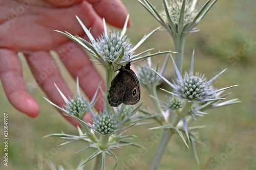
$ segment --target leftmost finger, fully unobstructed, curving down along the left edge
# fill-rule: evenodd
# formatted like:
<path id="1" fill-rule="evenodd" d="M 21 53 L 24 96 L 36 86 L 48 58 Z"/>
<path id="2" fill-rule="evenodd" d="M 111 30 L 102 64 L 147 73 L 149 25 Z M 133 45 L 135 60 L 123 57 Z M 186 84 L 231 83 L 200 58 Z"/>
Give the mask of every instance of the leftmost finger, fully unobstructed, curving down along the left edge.
<path id="1" fill-rule="evenodd" d="M 16 52 L 0 50 L 0 78 L 13 107 L 30 117 L 36 117 L 40 111 L 39 105 L 26 89 L 22 64 Z"/>

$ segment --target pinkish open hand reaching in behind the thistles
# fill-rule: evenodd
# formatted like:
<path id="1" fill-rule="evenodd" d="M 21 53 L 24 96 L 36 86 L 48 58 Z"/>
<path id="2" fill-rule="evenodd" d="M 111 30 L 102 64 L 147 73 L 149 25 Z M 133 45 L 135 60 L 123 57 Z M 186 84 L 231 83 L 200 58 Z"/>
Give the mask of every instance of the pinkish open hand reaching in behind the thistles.
<path id="1" fill-rule="evenodd" d="M 0 16 L 4 17 L 0 18 L 0 78 L 12 106 L 30 117 L 36 117 L 40 112 L 39 104 L 26 88 L 17 52 L 24 53 L 32 74 L 39 80 L 38 85 L 53 103 L 65 104 L 54 83 L 66 96 L 73 96 L 73 93 L 54 64 L 50 50 L 59 54 L 72 77 L 79 78 L 80 87 L 92 99 L 102 81 L 98 71 L 81 47 L 53 30 L 68 31 L 87 39 L 75 18 L 77 15 L 87 28 L 91 28 L 92 35 L 98 37 L 103 31 L 102 18 L 110 25 L 122 28 L 127 14 L 119 0 L 0 0 Z M 129 21 L 128 26 L 130 24 Z M 38 79 L 44 68 L 49 68 L 48 74 Z M 101 87 L 104 90 L 104 83 Z M 102 107 L 103 98 L 100 98 L 96 108 L 101 110 Z"/>

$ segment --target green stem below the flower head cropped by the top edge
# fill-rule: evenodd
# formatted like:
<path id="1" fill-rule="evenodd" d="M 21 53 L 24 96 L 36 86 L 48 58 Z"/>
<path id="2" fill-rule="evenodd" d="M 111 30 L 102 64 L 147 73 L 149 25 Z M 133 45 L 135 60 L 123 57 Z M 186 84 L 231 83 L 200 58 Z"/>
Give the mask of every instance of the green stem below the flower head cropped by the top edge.
<path id="1" fill-rule="evenodd" d="M 178 35 L 176 38 L 174 38 L 174 48 L 175 52 L 175 63 L 180 71 L 180 74 L 182 75 L 182 66 L 183 66 L 183 57 L 184 57 L 184 46 L 185 46 L 185 40 L 186 40 L 186 34 Z M 175 74 L 175 81 L 177 79 L 177 75 Z"/>

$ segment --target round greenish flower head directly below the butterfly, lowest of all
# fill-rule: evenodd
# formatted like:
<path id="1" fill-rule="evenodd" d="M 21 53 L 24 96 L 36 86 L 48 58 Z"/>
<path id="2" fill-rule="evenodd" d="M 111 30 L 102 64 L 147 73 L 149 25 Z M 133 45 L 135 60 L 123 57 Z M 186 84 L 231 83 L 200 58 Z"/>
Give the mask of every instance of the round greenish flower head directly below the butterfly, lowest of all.
<path id="1" fill-rule="evenodd" d="M 93 125 L 99 134 L 110 135 L 118 128 L 117 117 L 113 114 L 98 114 Z"/>

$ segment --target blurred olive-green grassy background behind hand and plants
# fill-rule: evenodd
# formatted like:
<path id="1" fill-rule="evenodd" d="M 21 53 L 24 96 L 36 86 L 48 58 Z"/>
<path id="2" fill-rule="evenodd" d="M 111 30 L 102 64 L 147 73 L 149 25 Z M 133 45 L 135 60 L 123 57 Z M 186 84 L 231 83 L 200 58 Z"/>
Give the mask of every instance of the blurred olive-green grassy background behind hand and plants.
<path id="1" fill-rule="evenodd" d="M 159 27 L 159 23 L 137 1 L 122 2 L 133 21 L 127 35 L 134 44 L 145 33 Z M 161 8 L 162 1 L 151 2 L 158 9 Z M 204 1 L 199 3 L 202 2 Z M 238 84 L 238 87 L 228 90 L 232 92 L 229 99 L 239 98 L 242 103 L 210 110 L 210 114 L 198 118 L 193 124 L 206 125 L 199 131 L 200 138 L 206 145 L 197 145 L 200 165 L 197 165 L 191 149 L 187 149 L 180 138 L 174 136 L 168 144 L 159 169 L 256 169 L 256 61 L 253 58 L 256 54 L 255 8 L 254 0 L 218 1 L 197 26 L 201 31 L 187 37 L 184 70 L 189 69 L 190 57 L 195 49 L 195 70 L 204 72 L 210 79 L 227 68 L 214 85 L 222 88 Z M 244 48 L 248 41 L 252 42 L 249 50 Z M 137 53 L 152 47 L 155 52 L 173 50 L 173 42 L 168 33 L 158 31 L 141 45 Z M 157 56 L 152 60 L 161 64 L 163 59 L 164 56 Z M 24 63 L 25 81 L 34 81 L 24 58 L 21 60 Z M 63 77 L 75 92 L 73 79 L 61 64 L 60 67 Z M 173 77 L 171 62 L 165 76 L 169 80 Z M 42 98 L 45 94 L 38 87 L 31 91 L 41 108 L 40 115 L 35 119 L 18 112 L 10 105 L 1 84 L 0 92 L 1 121 L 2 113 L 9 113 L 9 165 L 3 165 L 3 140 L 0 140 L 0 169 L 46 169 L 46 159 L 50 159 L 55 165 L 63 164 L 67 169 L 75 169 L 81 159 L 84 160 L 90 155 L 92 150 L 75 153 L 83 147 L 81 142 L 58 147 L 61 142 L 58 138 L 42 138 L 61 131 L 77 134 L 77 130 Z M 145 90 L 142 90 L 141 102 L 152 105 Z M 2 139 L 2 122 L 0 126 Z M 116 169 L 149 169 L 160 137 L 158 131 L 147 130 L 151 126 L 132 127 L 126 131 L 126 134 L 137 135 L 134 142 L 144 145 L 150 152 L 136 157 L 138 148 L 117 149 L 114 151 L 119 157 Z M 148 144 L 147 141 L 154 142 Z M 111 169 L 115 160 L 108 158 L 107 162 L 107 169 Z M 89 162 L 85 169 L 92 169 L 93 163 L 94 160 Z"/>

